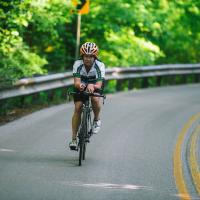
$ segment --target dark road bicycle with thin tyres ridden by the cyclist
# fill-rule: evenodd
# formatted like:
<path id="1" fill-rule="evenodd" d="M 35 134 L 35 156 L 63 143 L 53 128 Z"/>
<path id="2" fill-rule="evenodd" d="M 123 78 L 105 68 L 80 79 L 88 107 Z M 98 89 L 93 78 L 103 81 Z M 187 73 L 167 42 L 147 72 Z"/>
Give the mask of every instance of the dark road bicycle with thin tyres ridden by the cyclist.
<path id="1" fill-rule="evenodd" d="M 81 113 L 81 123 L 78 129 L 77 138 L 78 138 L 78 146 L 77 151 L 79 152 L 79 166 L 82 164 L 82 160 L 85 160 L 86 154 L 86 147 L 87 143 L 90 142 L 90 137 L 93 135 L 92 131 L 92 105 L 90 97 L 102 97 L 103 104 L 106 98 L 105 95 L 101 95 L 98 93 L 89 93 L 86 91 L 83 92 L 69 92 L 69 95 L 74 94 L 82 94 L 84 95 L 84 101 L 82 106 L 82 113 Z"/>

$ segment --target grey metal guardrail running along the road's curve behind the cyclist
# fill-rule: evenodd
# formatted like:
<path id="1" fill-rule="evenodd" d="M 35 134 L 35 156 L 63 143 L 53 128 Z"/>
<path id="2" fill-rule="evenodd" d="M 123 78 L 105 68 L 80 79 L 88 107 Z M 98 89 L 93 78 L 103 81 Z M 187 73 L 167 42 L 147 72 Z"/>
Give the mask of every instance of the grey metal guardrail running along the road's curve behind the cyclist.
<path id="1" fill-rule="evenodd" d="M 124 80 L 129 80 L 129 88 L 131 88 L 134 84 L 134 79 L 142 78 L 143 87 L 147 87 L 148 78 L 156 77 L 156 84 L 160 86 L 162 77 L 175 77 L 177 75 L 186 77 L 191 74 L 195 75 L 195 82 L 200 82 L 200 64 L 174 64 L 130 68 L 114 67 L 106 69 L 106 81 L 117 80 L 116 87 L 119 89 Z M 72 85 L 72 72 L 57 73 L 35 78 L 24 78 L 18 80 L 12 88 L 1 90 L 0 100 L 69 87 Z"/>

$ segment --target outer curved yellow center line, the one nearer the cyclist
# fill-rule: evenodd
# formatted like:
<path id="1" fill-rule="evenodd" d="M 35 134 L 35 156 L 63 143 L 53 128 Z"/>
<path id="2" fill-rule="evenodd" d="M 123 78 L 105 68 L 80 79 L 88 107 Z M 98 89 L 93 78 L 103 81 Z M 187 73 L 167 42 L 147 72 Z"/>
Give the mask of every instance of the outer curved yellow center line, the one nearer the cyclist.
<path id="1" fill-rule="evenodd" d="M 174 177 L 176 182 L 176 187 L 179 192 L 179 197 L 182 200 L 191 200 L 191 196 L 188 192 L 186 183 L 184 181 L 183 175 L 183 167 L 182 167 L 182 159 L 181 159 L 181 152 L 182 152 L 182 145 L 184 142 L 184 138 L 186 134 L 189 132 L 189 128 L 192 124 L 200 118 L 200 113 L 192 116 L 190 120 L 184 125 L 183 129 L 181 130 L 178 140 L 175 146 L 174 156 L 173 156 L 173 163 L 174 163 Z"/>

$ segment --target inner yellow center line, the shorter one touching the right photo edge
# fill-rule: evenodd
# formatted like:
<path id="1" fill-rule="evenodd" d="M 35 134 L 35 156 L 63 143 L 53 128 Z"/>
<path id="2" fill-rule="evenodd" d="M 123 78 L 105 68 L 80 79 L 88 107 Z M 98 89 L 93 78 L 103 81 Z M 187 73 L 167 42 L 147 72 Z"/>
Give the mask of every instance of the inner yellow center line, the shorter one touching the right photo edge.
<path id="1" fill-rule="evenodd" d="M 196 190 L 198 194 L 200 195 L 200 173 L 199 173 L 199 167 L 198 167 L 198 162 L 196 158 L 196 148 L 197 148 L 196 144 L 197 144 L 198 134 L 200 134 L 200 125 L 197 126 L 194 134 L 192 135 L 191 146 L 190 146 L 191 174 L 192 174 L 192 178 L 193 178 L 193 182 L 196 187 Z"/>

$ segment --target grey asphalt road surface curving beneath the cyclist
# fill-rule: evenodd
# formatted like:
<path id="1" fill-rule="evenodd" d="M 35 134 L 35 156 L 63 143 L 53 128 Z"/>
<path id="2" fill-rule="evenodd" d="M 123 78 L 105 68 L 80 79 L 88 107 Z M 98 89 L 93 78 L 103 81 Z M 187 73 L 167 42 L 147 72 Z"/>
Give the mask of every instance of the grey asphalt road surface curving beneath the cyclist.
<path id="1" fill-rule="evenodd" d="M 0 200 L 185 198 L 174 174 L 175 147 L 200 112 L 200 84 L 108 95 L 102 129 L 91 138 L 81 167 L 78 153 L 68 148 L 72 112 L 73 103 L 63 104 L 0 127 Z M 199 199 L 187 157 L 190 132 L 181 150 L 183 181 L 188 198 Z"/>

